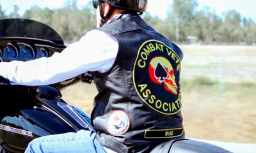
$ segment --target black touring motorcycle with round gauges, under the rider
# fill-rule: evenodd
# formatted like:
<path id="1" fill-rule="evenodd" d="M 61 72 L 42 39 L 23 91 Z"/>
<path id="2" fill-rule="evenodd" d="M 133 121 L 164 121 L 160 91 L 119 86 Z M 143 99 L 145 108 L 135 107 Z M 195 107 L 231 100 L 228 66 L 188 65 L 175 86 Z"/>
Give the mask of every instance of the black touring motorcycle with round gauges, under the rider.
<path id="1" fill-rule="evenodd" d="M 49 57 L 66 46 L 49 25 L 24 18 L 0 20 L 0 58 L 10 62 Z M 92 83 L 84 73 L 52 85 L 18 85 L 0 77 L 0 152 L 24 152 L 40 136 L 94 131 L 83 111 L 61 99 L 61 90 L 77 82 Z M 152 152 L 228 152 L 195 140 L 161 143 Z"/>

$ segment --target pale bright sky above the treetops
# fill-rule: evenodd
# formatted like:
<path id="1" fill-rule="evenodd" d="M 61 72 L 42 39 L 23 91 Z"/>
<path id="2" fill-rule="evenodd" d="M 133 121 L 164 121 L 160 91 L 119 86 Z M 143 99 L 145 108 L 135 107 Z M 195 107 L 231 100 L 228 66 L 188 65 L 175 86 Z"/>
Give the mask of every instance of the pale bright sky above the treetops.
<path id="1" fill-rule="evenodd" d="M 9 14 L 13 11 L 13 5 L 19 6 L 19 13 L 22 15 L 27 9 L 33 5 L 38 5 L 41 8 L 61 8 L 67 0 L 0 0 L 2 10 Z M 84 4 L 91 0 L 77 0 L 77 6 L 83 7 Z M 197 0 L 198 9 L 208 7 L 217 15 L 221 15 L 228 10 L 236 10 L 243 17 L 252 18 L 256 21 L 256 0 Z M 160 18 L 166 17 L 166 11 L 170 8 L 172 0 L 148 0 L 147 11 L 151 15 L 156 15 Z"/>

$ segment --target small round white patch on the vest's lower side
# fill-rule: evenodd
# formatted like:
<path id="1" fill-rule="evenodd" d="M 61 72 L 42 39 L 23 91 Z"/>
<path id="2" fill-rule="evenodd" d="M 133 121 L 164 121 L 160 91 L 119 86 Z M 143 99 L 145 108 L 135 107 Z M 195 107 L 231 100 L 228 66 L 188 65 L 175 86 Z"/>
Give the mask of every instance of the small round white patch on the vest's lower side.
<path id="1" fill-rule="evenodd" d="M 124 135 L 130 127 L 130 119 L 122 110 L 116 110 L 108 118 L 108 131 L 111 135 Z"/>

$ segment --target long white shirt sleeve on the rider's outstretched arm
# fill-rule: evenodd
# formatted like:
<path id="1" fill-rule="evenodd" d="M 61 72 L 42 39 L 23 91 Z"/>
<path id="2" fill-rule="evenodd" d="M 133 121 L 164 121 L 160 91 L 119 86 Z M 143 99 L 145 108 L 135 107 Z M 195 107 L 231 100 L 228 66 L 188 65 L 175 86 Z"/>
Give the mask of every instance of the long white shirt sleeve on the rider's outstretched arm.
<path id="1" fill-rule="evenodd" d="M 49 85 L 86 71 L 108 71 L 115 62 L 118 42 L 103 31 L 89 31 L 61 53 L 33 61 L 0 63 L 0 75 L 20 85 Z"/>

